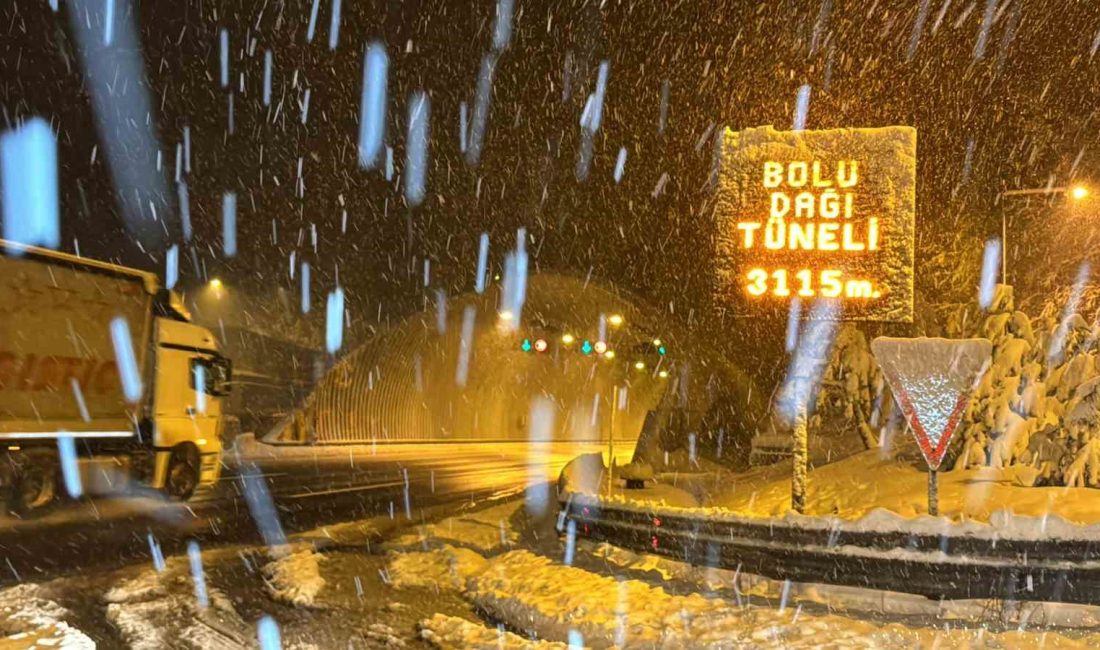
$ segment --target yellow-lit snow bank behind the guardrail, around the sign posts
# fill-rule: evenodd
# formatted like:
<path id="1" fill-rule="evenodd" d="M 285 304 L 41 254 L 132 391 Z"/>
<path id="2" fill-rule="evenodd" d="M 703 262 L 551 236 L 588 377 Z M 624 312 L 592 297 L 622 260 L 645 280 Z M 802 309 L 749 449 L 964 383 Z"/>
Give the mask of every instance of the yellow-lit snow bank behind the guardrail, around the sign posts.
<path id="1" fill-rule="evenodd" d="M 734 476 L 708 507 L 685 508 L 623 495 L 575 495 L 634 511 L 705 517 L 734 524 L 774 524 L 837 532 L 910 532 L 988 540 L 1037 541 L 1100 538 L 1096 491 L 1023 487 L 1014 467 L 942 472 L 941 514 L 926 508 L 927 475 L 909 463 L 882 460 L 877 450 L 856 454 L 810 473 L 807 513 L 789 511 L 790 475 L 754 472 Z M 630 493 L 626 493 L 628 496 Z"/>

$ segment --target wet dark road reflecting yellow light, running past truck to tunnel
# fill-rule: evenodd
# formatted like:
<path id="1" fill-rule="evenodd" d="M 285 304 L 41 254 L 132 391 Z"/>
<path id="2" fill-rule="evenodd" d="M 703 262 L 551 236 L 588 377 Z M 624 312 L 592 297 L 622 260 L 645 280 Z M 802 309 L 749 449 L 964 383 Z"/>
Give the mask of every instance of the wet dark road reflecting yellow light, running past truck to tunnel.
<path id="1" fill-rule="evenodd" d="M 77 565 L 147 553 L 152 532 L 166 547 L 191 538 L 237 542 L 260 527 L 242 476 L 262 478 L 286 531 L 375 515 L 406 519 L 446 503 L 501 498 L 557 478 L 588 443 L 406 443 L 275 445 L 241 436 L 227 451 L 217 489 L 187 503 L 131 494 L 61 503 L 31 519 L 0 517 L 0 584 L 65 575 Z M 619 444 L 628 455 L 632 447 Z M 99 552 L 110 549 L 110 553 Z"/>

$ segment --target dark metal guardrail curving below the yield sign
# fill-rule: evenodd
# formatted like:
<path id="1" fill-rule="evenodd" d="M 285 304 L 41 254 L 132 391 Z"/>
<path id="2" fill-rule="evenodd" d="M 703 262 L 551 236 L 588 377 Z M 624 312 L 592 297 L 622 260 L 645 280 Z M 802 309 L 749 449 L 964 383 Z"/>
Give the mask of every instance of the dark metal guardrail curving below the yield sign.
<path id="1" fill-rule="evenodd" d="M 578 537 L 773 580 L 936 599 L 1100 604 L 1100 539 L 854 531 L 784 520 L 706 518 L 575 494 L 561 506 L 561 521 L 573 521 Z"/>

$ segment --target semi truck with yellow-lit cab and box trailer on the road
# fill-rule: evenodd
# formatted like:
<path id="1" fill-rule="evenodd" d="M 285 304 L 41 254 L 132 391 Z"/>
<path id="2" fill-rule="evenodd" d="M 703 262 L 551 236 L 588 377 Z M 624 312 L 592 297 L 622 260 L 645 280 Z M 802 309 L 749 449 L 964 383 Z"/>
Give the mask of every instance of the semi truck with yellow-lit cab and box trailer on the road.
<path id="1" fill-rule="evenodd" d="M 63 459 L 84 493 L 133 481 L 187 499 L 216 483 L 232 366 L 179 297 L 151 273 L 3 240 L 0 249 L 9 509 L 59 496 Z"/>

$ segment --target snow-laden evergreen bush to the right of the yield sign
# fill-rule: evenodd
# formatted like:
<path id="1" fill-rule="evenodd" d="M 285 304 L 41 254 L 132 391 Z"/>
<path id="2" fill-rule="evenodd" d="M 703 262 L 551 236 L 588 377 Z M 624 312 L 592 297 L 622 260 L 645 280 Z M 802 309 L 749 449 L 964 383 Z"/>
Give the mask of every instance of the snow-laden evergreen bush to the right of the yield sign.
<path id="1" fill-rule="evenodd" d="M 1030 318 L 1004 285 L 987 310 L 967 306 L 949 317 L 947 334 L 989 339 L 993 361 L 948 466 L 1028 465 L 1036 485 L 1100 487 L 1098 333 L 1079 313 Z"/>

